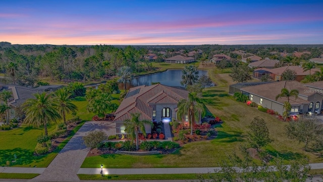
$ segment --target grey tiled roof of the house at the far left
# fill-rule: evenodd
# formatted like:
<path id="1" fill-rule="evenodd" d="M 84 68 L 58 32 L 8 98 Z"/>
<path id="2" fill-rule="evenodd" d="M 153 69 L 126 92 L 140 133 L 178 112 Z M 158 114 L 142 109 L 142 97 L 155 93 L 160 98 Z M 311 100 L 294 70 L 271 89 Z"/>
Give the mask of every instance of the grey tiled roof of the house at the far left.
<path id="1" fill-rule="evenodd" d="M 34 88 L 13 84 L 3 85 L 0 92 L 3 90 L 8 90 L 12 93 L 13 99 L 9 100 L 8 105 L 16 108 L 21 106 L 27 99 L 35 99 L 34 94 L 41 93 L 41 91 Z"/>

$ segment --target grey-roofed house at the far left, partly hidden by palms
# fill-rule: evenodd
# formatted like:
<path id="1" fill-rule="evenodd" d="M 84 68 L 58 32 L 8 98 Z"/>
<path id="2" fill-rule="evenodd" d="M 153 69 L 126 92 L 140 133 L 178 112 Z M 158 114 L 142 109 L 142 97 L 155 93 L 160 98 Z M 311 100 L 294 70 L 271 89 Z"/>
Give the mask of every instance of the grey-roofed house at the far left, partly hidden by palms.
<path id="1" fill-rule="evenodd" d="M 34 94 L 42 92 L 41 90 L 37 90 L 35 88 L 28 88 L 13 84 L 0 85 L 0 92 L 3 92 L 4 90 L 8 90 L 13 96 L 8 101 L 8 105 L 11 107 L 9 110 L 9 119 L 17 118 L 16 112 L 18 112 L 21 105 L 28 99 L 35 99 Z"/>

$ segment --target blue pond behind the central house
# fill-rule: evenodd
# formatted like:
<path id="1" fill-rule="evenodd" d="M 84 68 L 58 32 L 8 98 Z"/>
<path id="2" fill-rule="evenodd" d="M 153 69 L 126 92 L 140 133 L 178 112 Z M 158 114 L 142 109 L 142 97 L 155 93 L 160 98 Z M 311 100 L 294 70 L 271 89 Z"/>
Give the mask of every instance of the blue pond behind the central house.
<path id="1" fill-rule="evenodd" d="M 198 75 L 207 75 L 207 71 L 198 70 Z M 168 86 L 183 86 L 182 81 L 182 70 L 167 70 L 164 72 L 144 75 L 132 78 L 130 83 L 127 83 L 127 89 L 139 85 L 151 85 L 151 82 L 159 82 L 160 84 Z M 124 89 L 124 85 L 119 85 L 120 89 Z"/>

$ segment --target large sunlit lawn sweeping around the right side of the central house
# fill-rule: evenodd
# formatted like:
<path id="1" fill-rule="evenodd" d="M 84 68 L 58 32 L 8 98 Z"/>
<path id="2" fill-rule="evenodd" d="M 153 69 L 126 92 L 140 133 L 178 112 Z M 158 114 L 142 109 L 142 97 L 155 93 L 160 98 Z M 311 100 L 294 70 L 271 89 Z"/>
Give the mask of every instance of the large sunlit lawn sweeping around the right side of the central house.
<path id="1" fill-rule="evenodd" d="M 174 66 L 172 65 L 172 67 Z M 165 66 L 163 69 L 167 69 L 167 67 Z M 229 69 L 223 71 L 212 67 L 202 67 L 202 69 L 208 70 L 210 77 L 218 84 L 216 87 L 207 88 L 202 98 L 208 112 L 224 120 L 224 123 L 217 126 L 219 135 L 216 139 L 186 144 L 169 155 L 129 156 L 110 154 L 87 157 L 81 167 L 97 168 L 98 164 L 101 163 L 107 168 L 218 166 L 221 159 L 225 158 L 228 153 L 239 151 L 239 144 L 246 140 L 248 125 L 256 116 L 266 121 L 270 136 L 274 140 L 265 148 L 269 153 L 284 157 L 286 163 L 288 163 L 288 160 L 304 157 L 307 157 L 311 163 L 323 161 L 318 155 L 302 150 L 303 144 L 287 138 L 284 130 L 286 122 L 260 112 L 257 108 L 238 103 L 232 96 L 228 95 L 229 85 L 234 83 L 229 77 Z"/>

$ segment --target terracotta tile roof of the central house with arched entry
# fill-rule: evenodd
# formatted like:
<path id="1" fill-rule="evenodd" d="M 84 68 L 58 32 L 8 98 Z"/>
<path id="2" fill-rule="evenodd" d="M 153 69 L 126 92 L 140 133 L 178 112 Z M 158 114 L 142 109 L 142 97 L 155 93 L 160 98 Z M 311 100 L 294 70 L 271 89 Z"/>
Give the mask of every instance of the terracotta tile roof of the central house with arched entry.
<path id="1" fill-rule="evenodd" d="M 141 85 L 129 89 L 125 99 L 115 112 L 114 121 L 131 119 L 130 113 L 140 113 L 140 120 L 151 120 L 152 105 L 177 104 L 188 97 L 188 91 L 180 88 L 154 84 Z"/>

